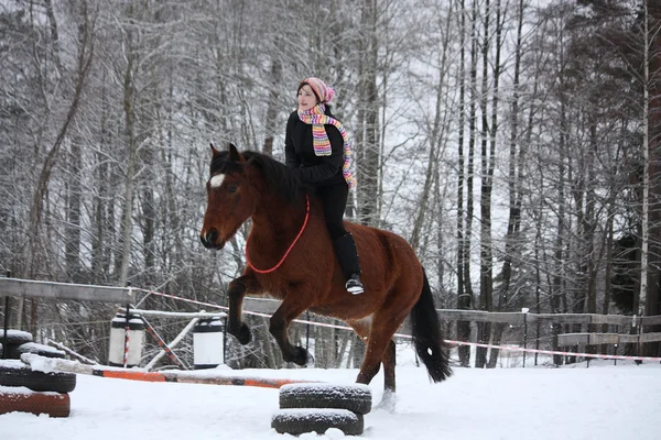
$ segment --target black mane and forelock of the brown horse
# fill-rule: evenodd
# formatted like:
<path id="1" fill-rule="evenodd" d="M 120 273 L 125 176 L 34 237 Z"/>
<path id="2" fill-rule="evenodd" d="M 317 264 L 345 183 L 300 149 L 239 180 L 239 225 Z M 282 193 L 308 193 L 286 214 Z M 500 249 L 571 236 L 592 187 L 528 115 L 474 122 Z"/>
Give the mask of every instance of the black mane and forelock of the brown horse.
<path id="1" fill-rule="evenodd" d="M 212 160 L 210 174 L 242 172 L 242 167 L 249 164 L 261 170 L 269 189 L 272 189 L 289 202 L 302 200 L 303 196 L 310 193 L 310 188 L 301 183 L 290 167 L 273 157 L 253 151 L 242 151 L 241 155 L 247 162 L 235 162 L 230 160 L 229 152 L 219 152 Z"/>

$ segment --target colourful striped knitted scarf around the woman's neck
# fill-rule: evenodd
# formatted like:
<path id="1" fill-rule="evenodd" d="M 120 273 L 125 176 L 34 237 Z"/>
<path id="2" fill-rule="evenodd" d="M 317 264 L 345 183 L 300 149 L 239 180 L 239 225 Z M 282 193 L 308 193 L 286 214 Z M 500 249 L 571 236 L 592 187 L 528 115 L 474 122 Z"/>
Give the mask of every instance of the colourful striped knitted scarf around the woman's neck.
<path id="1" fill-rule="evenodd" d="M 312 146 L 314 147 L 314 154 L 317 156 L 329 156 L 330 141 L 326 134 L 325 124 L 330 124 L 339 130 L 342 139 L 344 141 L 344 165 L 342 166 L 342 174 L 349 185 L 349 188 L 356 186 L 356 177 L 351 173 L 351 141 L 349 134 L 345 130 L 342 122 L 335 118 L 330 118 L 326 114 L 326 106 L 318 103 L 310 110 L 299 111 L 299 119 L 306 124 L 312 125 Z"/>

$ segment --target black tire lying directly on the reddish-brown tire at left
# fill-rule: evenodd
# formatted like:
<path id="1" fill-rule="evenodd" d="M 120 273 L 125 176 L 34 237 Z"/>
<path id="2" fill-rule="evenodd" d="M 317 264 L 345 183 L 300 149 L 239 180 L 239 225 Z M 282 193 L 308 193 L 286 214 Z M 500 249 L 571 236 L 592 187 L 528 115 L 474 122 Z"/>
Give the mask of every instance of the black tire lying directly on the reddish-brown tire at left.
<path id="1" fill-rule="evenodd" d="M 71 393 L 76 388 L 76 375 L 32 371 L 20 361 L 9 361 L 0 365 L 0 385 L 24 386 L 34 392 Z"/>

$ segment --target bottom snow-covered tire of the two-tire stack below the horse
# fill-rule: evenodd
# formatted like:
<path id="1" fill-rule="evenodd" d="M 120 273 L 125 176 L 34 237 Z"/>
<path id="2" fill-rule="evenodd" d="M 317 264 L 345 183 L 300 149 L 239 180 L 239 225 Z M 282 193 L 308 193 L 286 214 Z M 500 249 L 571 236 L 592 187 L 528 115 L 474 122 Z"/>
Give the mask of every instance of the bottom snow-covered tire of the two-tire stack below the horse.
<path id="1" fill-rule="evenodd" d="M 271 428 L 292 436 L 313 431 L 323 435 L 329 428 L 345 436 L 359 436 L 364 427 L 362 415 L 348 409 L 280 409 L 271 418 Z"/>

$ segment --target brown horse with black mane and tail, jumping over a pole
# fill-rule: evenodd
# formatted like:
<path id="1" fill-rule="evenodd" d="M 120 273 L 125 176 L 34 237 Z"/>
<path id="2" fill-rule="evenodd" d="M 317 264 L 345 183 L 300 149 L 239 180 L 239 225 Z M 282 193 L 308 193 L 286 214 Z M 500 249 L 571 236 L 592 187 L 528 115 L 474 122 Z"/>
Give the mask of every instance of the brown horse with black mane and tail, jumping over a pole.
<path id="1" fill-rule="evenodd" d="M 395 389 L 392 336 L 411 317 L 415 351 L 432 381 L 449 376 L 447 354 L 432 292 L 413 249 L 392 232 L 346 222 L 358 248 L 365 293 L 351 295 L 335 257 L 321 201 L 282 163 L 256 152 L 212 145 L 208 205 L 202 243 L 220 250 L 249 218 L 248 265 L 229 284 L 227 331 L 240 343 L 251 333 L 241 321 L 246 295 L 270 295 L 282 304 L 269 331 L 286 362 L 305 365 L 310 354 L 294 346 L 288 328 L 303 311 L 342 319 L 367 343 L 356 382 L 369 384 L 383 363 L 387 393 Z"/>

